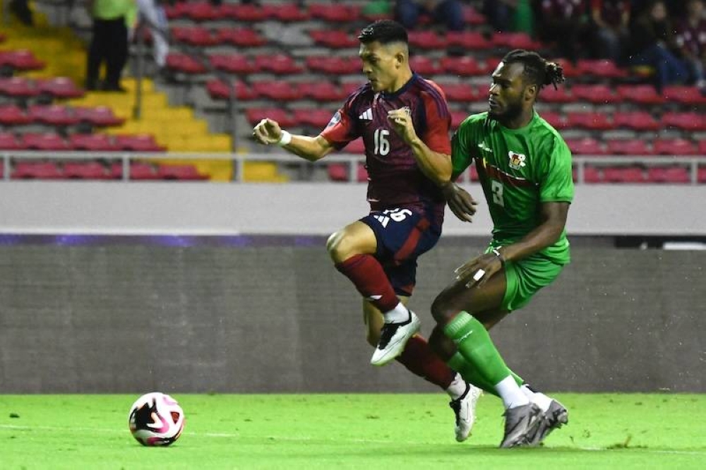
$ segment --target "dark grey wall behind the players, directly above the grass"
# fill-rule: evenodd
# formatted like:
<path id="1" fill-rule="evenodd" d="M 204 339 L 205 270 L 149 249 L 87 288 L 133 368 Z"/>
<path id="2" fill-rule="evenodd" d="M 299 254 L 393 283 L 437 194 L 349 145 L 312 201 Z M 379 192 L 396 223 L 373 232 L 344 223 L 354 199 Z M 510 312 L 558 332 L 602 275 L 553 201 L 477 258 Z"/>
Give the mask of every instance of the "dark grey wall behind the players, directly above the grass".
<path id="1" fill-rule="evenodd" d="M 481 249 L 421 258 L 428 313 Z M 322 247 L 3 246 L 0 392 L 429 392 L 369 366 L 360 299 Z M 577 248 L 493 330 L 551 391 L 706 392 L 706 252 Z"/>

